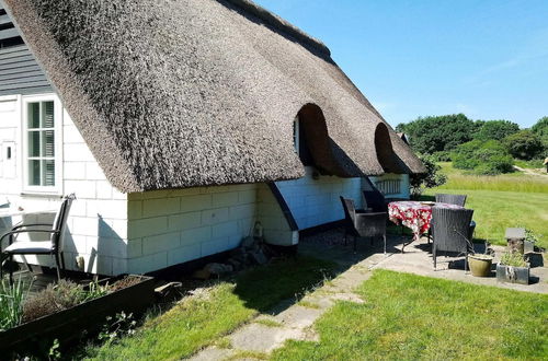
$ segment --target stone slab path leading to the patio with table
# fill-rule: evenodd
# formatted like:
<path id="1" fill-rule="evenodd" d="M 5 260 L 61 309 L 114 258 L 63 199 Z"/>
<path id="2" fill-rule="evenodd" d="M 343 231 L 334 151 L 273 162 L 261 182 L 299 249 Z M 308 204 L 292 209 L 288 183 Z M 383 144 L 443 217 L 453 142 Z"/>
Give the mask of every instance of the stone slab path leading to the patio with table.
<path id="1" fill-rule="evenodd" d="M 450 257 L 438 258 L 437 270 L 434 270 L 432 257 L 425 251 L 429 247 L 426 240 L 407 246 L 404 254 L 400 253 L 403 241 L 403 237 L 400 236 L 389 238 L 387 255 L 381 253 L 380 245 L 377 244 L 372 248 L 366 243 L 362 243 L 358 252 L 354 253 L 350 245 L 343 246 L 336 241 L 333 242 L 340 236 L 336 231 L 332 232 L 302 242 L 299 245 L 299 253 L 338 263 L 344 270 L 336 278 L 310 292 L 298 303 L 283 302 L 270 315 L 260 315 L 251 323 L 228 335 L 226 338 L 230 348 L 210 347 L 202 350 L 191 360 L 250 360 L 254 359 L 253 356 L 256 358 L 271 353 L 276 348 L 282 347 L 287 339 L 318 340 L 318 335 L 312 328 L 313 323 L 339 300 L 362 303 L 363 300 L 354 293 L 354 289 L 367 280 L 375 268 L 548 293 L 548 268 L 546 267 L 532 269 L 532 276 L 537 278 L 535 284 L 498 283 L 494 277 L 477 278 L 465 273 L 457 259 Z M 495 252 L 502 253 L 502 247 L 495 248 Z"/>

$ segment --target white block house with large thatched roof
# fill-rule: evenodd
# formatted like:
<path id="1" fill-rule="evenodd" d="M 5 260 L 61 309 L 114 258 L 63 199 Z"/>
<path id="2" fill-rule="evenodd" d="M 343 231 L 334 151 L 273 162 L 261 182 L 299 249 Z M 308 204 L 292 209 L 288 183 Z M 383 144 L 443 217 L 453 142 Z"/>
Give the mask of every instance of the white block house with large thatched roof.
<path id="1" fill-rule="evenodd" d="M 75 193 L 69 269 L 167 268 L 237 247 L 258 221 L 294 246 L 343 218 L 339 196 L 406 198 L 423 172 L 322 43 L 250 1 L 3 9 L 0 220 L 50 221 Z"/>

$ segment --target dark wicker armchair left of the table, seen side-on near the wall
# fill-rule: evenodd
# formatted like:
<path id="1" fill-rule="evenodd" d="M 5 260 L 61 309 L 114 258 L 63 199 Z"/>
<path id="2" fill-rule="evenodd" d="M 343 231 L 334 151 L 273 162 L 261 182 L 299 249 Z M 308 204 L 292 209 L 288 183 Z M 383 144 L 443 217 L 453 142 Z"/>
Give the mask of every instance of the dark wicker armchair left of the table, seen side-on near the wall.
<path id="1" fill-rule="evenodd" d="M 354 200 L 341 197 L 344 209 L 344 244 L 349 234 L 354 236 L 354 252 L 356 251 L 357 237 L 370 237 L 372 244 L 375 237 L 383 237 L 384 252 L 386 254 L 386 219 L 385 212 L 358 212 Z"/>

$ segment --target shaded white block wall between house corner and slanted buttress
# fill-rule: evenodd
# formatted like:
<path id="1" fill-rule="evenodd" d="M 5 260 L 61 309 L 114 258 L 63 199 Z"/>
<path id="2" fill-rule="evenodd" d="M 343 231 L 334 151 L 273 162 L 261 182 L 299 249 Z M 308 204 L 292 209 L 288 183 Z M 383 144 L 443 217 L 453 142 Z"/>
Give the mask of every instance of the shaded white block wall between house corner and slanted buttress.
<path id="1" fill-rule="evenodd" d="M 128 271 L 142 273 L 237 247 L 252 233 L 258 185 L 128 195 Z"/>

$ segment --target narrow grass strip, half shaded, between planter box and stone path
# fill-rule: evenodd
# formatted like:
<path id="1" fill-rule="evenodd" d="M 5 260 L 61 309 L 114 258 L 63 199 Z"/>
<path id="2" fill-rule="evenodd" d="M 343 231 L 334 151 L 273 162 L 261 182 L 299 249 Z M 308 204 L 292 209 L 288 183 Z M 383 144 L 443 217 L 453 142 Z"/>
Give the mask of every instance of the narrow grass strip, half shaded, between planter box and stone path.
<path id="1" fill-rule="evenodd" d="M 88 347 L 79 359 L 179 360 L 192 356 L 283 300 L 300 299 L 334 270 L 309 257 L 258 267 L 221 281 L 151 317 L 132 337 Z"/>

